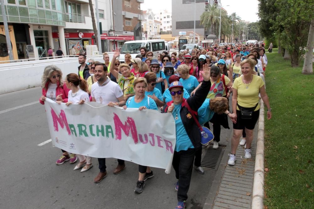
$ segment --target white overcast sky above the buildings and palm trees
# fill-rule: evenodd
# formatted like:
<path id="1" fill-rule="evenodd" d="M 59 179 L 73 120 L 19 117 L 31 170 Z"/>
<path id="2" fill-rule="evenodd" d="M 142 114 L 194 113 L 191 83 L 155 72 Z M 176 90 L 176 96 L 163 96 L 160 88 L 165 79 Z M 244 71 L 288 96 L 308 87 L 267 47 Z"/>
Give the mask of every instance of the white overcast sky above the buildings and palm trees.
<path id="1" fill-rule="evenodd" d="M 257 16 L 258 0 L 249 1 L 221 0 L 221 3 L 223 8 L 227 10 L 228 15 L 235 12 L 237 13 L 238 16 L 241 17 L 242 20 L 250 22 L 258 21 Z M 141 9 L 147 10 L 148 8 L 153 9 L 153 12 L 159 12 L 160 10 L 163 9 L 167 9 L 169 12 L 171 12 L 171 0 L 157 0 L 157 1 L 145 0 L 144 3 L 141 4 Z"/>

